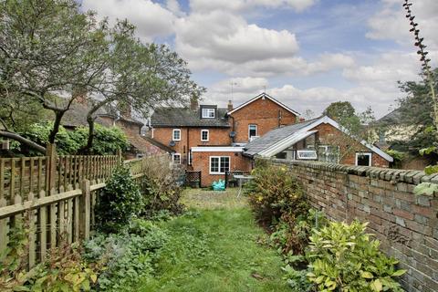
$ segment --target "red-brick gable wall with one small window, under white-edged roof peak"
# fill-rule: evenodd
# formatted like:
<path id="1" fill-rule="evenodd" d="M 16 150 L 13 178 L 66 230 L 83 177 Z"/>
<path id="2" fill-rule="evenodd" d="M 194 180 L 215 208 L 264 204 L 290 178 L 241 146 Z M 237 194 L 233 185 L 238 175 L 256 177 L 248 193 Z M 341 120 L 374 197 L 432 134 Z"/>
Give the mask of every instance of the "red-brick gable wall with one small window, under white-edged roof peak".
<path id="1" fill-rule="evenodd" d="M 281 110 L 282 118 L 279 119 Z M 257 125 L 257 135 L 263 136 L 269 130 L 278 128 L 279 125 L 290 125 L 297 122 L 297 116 L 277 105 L 270 99 L 256 99 L 232 115 L 235 119 L 235 142 L 248 141 L 248 125 Z M 233 123 L 233 119 L 230 120 Z"/>

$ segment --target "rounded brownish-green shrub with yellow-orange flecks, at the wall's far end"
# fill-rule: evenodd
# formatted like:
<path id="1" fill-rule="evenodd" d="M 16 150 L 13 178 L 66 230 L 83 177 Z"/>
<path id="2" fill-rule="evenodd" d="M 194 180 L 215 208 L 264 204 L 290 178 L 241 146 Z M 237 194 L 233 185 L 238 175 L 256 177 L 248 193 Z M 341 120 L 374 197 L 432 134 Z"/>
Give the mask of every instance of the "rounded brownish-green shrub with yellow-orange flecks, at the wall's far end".
<path id="1" fill-rule="evenodd" d="M 308 204 L 301 185 L 286 167 L 260 166 L 252 174 L 254 179 L 247 183 L 246 193 L 262 223 L 276 222 L 282 214 L 296 217 L 306 213 Z"/>

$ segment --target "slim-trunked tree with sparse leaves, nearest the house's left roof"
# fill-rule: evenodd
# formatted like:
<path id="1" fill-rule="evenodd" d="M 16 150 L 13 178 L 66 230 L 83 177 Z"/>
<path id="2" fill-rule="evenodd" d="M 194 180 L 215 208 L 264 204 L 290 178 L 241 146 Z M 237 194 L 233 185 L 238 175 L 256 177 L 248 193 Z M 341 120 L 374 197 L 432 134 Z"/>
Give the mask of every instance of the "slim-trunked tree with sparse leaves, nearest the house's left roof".
<path id="1" fill-rule="evenodd" d="M 126 20 L 109 32 L 107 73 L 102 86 L 93 89 L 100 98 L 91 99 L 89 141 L 82 151 L 92 148 L 95 113 L 104 106 L 129 108 L 147 118 L 154 107 L 187 105 L 205 90 L 191 80 L 187 63 L 169 47 L 145 45 L 134 34 L 135 27 Z"/>

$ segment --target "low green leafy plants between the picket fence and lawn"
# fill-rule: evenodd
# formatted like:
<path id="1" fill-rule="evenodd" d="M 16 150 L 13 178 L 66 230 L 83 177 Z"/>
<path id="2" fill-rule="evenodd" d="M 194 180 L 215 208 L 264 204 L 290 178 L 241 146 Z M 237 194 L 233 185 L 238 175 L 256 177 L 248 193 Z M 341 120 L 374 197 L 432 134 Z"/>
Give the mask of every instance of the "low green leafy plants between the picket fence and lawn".
<path id="1" fill-rule="evenodd" d="M 98 279 L 99 291 L 129 291 L 139 280 L 151 276 L 157 250 L 167 240 L 158 226 L 137 219 L 119 235 L 98 234 L 86 242 L 84 257 L 107 263 Z"/>

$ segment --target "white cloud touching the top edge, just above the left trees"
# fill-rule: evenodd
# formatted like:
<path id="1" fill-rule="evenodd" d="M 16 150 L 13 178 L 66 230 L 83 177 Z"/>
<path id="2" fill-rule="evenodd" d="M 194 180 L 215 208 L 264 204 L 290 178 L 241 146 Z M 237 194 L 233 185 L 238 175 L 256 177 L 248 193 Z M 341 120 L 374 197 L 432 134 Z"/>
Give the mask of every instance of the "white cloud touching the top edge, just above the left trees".
<path id="1" fill-rule="evenodd" d="M 150 0 L 82 0 L 82 6 L 96 11 L 100 17 L 108 16 L 111 24 L 116 19 L 127 18 L 137 26 L 138 36 L 145 41 L 151 41 L 154 36 L 171 35 L 174 31 L 176 16 Z"/>

